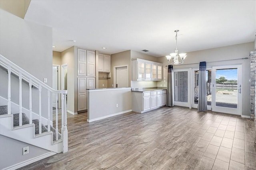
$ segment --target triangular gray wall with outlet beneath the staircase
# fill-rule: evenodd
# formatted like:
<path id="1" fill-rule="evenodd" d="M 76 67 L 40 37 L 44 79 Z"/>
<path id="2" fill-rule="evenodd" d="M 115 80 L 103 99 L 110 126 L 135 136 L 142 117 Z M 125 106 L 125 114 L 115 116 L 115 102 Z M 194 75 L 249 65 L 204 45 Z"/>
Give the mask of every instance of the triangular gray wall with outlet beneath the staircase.
<path id="1" fill-rule="evenodd" d="M 29 153 L 22 155 L 22 148 L 29 147 Z M 0 135 L 0 169 L 46 154 L 49 150 L 35 147 Z"/>

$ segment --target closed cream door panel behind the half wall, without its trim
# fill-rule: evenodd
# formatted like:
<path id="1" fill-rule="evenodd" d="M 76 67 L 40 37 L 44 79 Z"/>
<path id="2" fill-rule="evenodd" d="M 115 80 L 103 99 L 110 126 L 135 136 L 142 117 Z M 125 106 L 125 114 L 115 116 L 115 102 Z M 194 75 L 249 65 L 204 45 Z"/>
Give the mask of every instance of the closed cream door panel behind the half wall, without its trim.
<path id="1" fill-rule="evenodd" d="M 127 66 L 116 68 L 116 87 L 128 87 Z"/>

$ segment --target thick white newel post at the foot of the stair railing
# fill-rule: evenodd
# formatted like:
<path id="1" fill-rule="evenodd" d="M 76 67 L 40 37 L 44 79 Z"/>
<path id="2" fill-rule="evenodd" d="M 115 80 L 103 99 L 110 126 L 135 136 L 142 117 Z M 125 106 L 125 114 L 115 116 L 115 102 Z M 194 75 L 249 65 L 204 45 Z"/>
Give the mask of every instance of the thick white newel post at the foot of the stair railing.
<path id="1" fill-rule="evenodd" d="M 66 93 L 63 94 L 64 96 L 64 107 L 63 107 L 63 129 L 62 129 L 62 144 L 63 149 L 62 152 L 68 152 L 68 129 L 67 129 L 67 105 L 66 105 Z"/>

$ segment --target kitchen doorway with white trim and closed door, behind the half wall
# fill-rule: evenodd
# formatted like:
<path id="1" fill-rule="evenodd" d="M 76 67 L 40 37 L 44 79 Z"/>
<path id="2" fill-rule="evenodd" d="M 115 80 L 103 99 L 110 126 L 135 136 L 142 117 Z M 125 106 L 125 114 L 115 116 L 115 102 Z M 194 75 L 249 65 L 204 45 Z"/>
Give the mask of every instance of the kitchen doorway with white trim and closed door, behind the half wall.
<path id="1" fill-rule="evenodd" d="M 114 87 L 128 87 L 128 66 L 114 67 Z"/>

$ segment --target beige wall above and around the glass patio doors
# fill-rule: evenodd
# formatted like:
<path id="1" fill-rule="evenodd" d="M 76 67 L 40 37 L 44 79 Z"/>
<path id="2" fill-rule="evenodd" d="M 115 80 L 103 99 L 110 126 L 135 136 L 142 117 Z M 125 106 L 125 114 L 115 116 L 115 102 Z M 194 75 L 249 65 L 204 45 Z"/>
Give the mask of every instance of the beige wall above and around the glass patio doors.
<path id="1" fill-rule="evenodd" d="M 176 68 L 198 68 L 200 61 L 206 61 L 206 66 L 224 66 L 231 64 L 242 64 L 242 115 L 250 115 L 250 60 L 233 60 L 233 61 L 223 61 L 223 60 L 232 60 L 232 59 L 240 59 L 249 57 L 250 51 L 254 49 L 254 42 L 251 43 L 242 43 L 237 45 L 230 45 L 226 47 L 218 47 L 214 49 L 206 49 L 201 51 L 193 51 L 187 53 L 187 58 L 184 64 L 174 65 L 174 69 Z M 163 84 L 167 87 L 167 74 L 168 68 L 165 67 L 168 65 L 168 61 L 166 57 L 159 57 L 159 63 L 163 63 L 164 72 L 163 77 L 166 77 L 166 82 L 160 81 L 158 82 L 158 86 Z M 212 62 L 212 63 L 209 63 Z"/>

